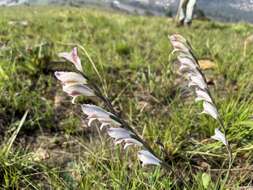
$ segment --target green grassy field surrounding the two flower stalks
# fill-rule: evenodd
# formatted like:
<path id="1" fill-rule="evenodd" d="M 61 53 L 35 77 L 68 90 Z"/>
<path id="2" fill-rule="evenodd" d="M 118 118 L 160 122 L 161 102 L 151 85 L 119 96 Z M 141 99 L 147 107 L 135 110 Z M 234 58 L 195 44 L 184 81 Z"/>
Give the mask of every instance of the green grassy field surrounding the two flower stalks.
<path id="1" fill-rule="evenodd" d="M 24 22 L 25 21 L 25 22 Z M 29 114 L 6 156 L 0 155 L 2 189 L 183 189 L 177 177 L 145 167 L 136 150 L 115 147 L 107 135 L 86 127 L 53 76 L 64 70 L 57 53 L 79 44 L 85 73 L 102 86 L 123 117 L 149 141 L 162 142 L 166 158 L 185 176 L 186 189 L 218 189 L 226 172 L 225 147 L 213 141 L 218 124 L 198 115 L 201 106 L 185 97 L 168 35 L 180 33 L 200 59 L 228 126 L 235 160 L 226 188 L 253 185 L 253 33 L 245 23 L 194 21 L 176 28 L 168 18 L 139 17 L 68 7 L 0 8 L 0 140 L 8 146 L 22 116 Z M 189 95 L 189 93 L 188 93 Z M 84 102 L 90 102 L 87 99 Z M 4 150 L 4 149 L 3 149 Z M 203 182 L 209 179 L 208 186 Z"/>

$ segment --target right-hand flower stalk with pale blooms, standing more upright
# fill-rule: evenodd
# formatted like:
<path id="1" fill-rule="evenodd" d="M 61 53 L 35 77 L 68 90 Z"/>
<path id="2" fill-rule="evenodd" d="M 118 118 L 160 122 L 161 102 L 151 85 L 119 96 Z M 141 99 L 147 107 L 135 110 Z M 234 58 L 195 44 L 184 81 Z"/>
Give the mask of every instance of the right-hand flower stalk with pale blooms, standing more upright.
<path id="1" fill-rule="evenodd" d="M 201 72 L 198 60 L 193 54 L 191 45 L 179 34 L 169 36 L 169 40 L 174 48 L 173 53 L 177 54 L 180 65 L 179 72 L 187 78 L 188 87 L 195 91 L 195 101 L 203 103 L 203 111 L 201 113 L 211 116 L 219 123 L 220 127 L 215 129 L 214 135 L 211 138 L 222 142 L 226 146 L 230 170 L 232 165 L 232 150 L 226 137 L 226 128 L 208 88 L 205 75 Z"/>

